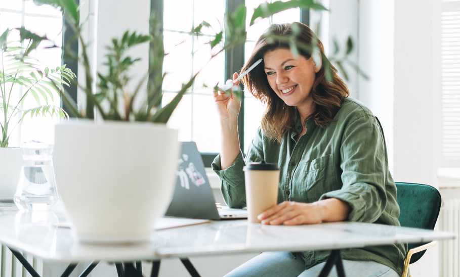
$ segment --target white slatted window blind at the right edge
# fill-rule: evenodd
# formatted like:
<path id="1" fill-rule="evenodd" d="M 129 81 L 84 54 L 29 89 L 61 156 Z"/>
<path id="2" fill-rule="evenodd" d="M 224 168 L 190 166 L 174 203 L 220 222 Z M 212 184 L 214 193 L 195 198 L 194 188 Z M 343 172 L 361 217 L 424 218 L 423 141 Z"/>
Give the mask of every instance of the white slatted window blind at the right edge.
<path id="1" fill-rule="evenodd" d="M 441 14 L 442 166 L 460 167 L 460 1 Z"/>

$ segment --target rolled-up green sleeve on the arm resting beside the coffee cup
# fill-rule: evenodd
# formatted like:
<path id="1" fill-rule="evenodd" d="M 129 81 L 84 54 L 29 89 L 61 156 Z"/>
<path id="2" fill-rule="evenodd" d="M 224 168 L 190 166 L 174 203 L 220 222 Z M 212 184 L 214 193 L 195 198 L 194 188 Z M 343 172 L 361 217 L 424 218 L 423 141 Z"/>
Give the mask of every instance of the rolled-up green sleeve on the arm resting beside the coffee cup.
<path id="1" fill-rule="evenodd" d="M 383 130 L 374 116 L 361 116 L 346 126 L 340 157 L 342 189 L 320 199 L 346 202 L 351 208 L 350 221 L 376 221 L 387 205 L 388 161 Z"/>

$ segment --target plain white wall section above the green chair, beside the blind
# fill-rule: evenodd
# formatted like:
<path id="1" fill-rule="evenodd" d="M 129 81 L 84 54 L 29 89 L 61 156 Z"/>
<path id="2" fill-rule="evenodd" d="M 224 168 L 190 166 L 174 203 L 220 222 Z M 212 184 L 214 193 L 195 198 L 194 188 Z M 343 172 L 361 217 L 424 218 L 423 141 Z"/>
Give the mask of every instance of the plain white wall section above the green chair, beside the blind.
<path id="1" fill-rule="evenodd" d="M 440 1 L 395 1 L 394 13 L 394 177 L 437 186 Z M 438 268 L 430 250 L 411 273 L 438 276 Z"/>

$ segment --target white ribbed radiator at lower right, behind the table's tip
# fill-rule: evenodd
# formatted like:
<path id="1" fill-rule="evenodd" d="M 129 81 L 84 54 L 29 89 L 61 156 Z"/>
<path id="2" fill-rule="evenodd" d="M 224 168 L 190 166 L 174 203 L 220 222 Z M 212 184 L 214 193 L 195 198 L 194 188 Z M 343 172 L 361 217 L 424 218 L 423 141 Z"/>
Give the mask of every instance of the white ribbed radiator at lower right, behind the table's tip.
<path id="1" fill-rule="evenodd" d="M 455 240 L 440 242 L 439 276 L 460 276 L 460 199 L 447 199 L 443 201 L 439 213 L 438 227 L 442 231 L 452 232 Z"/>

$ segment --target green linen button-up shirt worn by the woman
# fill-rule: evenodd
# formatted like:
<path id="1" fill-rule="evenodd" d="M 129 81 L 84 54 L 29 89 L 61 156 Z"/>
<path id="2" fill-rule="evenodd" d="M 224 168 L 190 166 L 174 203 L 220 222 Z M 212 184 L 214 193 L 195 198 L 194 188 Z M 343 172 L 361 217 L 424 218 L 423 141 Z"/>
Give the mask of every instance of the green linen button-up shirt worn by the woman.
<path id="1" fill-rule="evenodd" d="M 334 120 L 326 127 L 307 119 L 302 130 L 298 115 L 295 128 L 281 143 L 265 136 L 261 128 L 249 146 L 245 161 L 239 153 L 232 165 L 222 170 L 220 155 L 213 170 L 221 179 L 221 190 L 229 207 L 245 207 L 243 166 L 265 160 L 280 168 L 278 203 L 311 203 L 327 198 L 340 199 L 350 206 L 349 221 L 375 222 L 399 226 L 396 186 L 388 169 L 382 127 L 369 109 L 346 98 Z M 375 261 L 402 273 L 407 246 L 396 243 L 342 251 L 347 260 Z M 306 268 L 327 260 L 330 251 L 301 253 Z"/>

